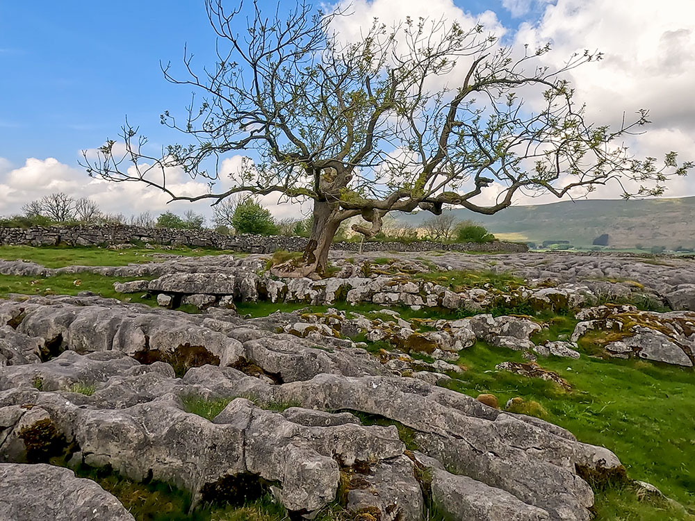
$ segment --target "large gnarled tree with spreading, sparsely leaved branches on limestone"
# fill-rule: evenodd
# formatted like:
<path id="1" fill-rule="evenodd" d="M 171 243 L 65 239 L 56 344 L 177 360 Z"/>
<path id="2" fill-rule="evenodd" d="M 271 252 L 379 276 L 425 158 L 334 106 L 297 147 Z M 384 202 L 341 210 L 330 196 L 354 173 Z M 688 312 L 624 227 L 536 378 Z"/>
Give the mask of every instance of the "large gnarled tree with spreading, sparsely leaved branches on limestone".
<path id="1" fill-rule="evenodd" d="M 184 141 L 148 155 L 147 138 L 126 120 L 126 154 L 107 140 L 96 158 L 85 151 L 82 164 L 91 176 L 139 181 L 172 200 L 219 204 L 241 192 L 313 200 L 302 258 L 275 274 L 322 272 L 338 226 L 351 217 L 363 220 L 354 231 L 373 237 L 393 210 L 439 215 L 447 205 L 493 214 L 520 192 L 562 198 L 612 181 L 625 197 L 660 195 L 667 177 L 692 167 L 673 152 L 663 165 L 630 154 L 623 138 L 648 123 L 646 110 L 616 129 L 585 120 L 564 73 L 600 53 L 547 67 L 538 58 L 549 45 L 505 47 L 482 26 L 445 19 L 407 18 L 391 28 L 375 21 L 345 42 L 336 21 L 350 13 L 341 8 L 322 13 L 299 0 L 269 17 L 255 2 L 250 10 L 223 4 L 205 2 L 220 40 L 217 63 L 197 71 L 184 51 L 185 77 L 163 67 L 168 81 L 202 94 L 184 117 L 161 117 Z M 230 172 L 223 159 L 240 152 L 249 156 Z M 212 189 L 173 192 L 166 179 L 174 169 Z M 231 188 L 215 190 L 222 177 Z M 493 183 L 493 203 L 478 197 Z"/>

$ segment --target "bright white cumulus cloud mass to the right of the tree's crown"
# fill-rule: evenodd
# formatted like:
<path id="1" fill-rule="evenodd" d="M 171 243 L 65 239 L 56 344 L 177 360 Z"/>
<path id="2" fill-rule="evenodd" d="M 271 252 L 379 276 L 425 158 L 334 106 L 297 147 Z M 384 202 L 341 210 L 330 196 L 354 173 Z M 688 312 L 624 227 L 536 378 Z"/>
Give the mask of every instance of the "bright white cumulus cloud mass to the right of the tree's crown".
<path id="1" fill-rule="evenodd" d="M 561 65 L 574 52 L 598 49 L 604 59 L 569 75 L 589 119 L 619 125 L 646 108 L 652 124 L 626 140 L 636 156 L 680 152 L 695 159 L 695 3 L 690 0 L 557 0 L 536 23 L 524 23 L 516 44 L 551 42 L 544 59 Z M 616 197 L 615 185 L 592 197 Z M 667 195 L 695 195 L 694 176 L 669 183 Z"/>

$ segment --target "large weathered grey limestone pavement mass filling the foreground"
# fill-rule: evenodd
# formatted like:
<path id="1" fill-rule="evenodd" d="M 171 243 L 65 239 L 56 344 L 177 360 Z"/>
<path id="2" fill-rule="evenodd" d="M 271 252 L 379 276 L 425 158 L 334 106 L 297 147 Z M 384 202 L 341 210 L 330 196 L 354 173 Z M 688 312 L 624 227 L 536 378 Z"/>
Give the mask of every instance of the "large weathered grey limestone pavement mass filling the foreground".
<path id="1" fill-rule="evenodd" d="M 389 521 L 419 520 L 430 494 L 461 520 L 589 520 L 594 495 L 578 469 L 621 471 L 564 429 L 400 376 L 359 347 L 278 333 L 277 317 L 31 297 L 0 301 L 5 324 L 19 352 L 38 349 L 0 367 L 8 463 L 110 465 L 196 502 L 256 483 L 296 513 L 339 500 Z M 220 401 L 210 420 L 195 414 Z"/>

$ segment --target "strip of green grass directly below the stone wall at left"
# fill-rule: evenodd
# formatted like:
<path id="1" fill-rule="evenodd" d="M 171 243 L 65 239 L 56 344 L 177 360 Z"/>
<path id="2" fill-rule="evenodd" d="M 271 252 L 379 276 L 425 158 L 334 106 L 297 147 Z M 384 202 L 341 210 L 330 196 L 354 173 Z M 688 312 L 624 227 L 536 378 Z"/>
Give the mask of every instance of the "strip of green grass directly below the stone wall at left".
<path id="1" fill-rule="evenodd" d="M 6 261 L 32 261 L 45 267 L 64 266 L 125 266 L 131 263 L 149 263 L 163 260 L 157 254 L 198 257 L 234 253 L 210 248 L 106 249 L 71 246 L 0 246 L 0 258 Z"/>

